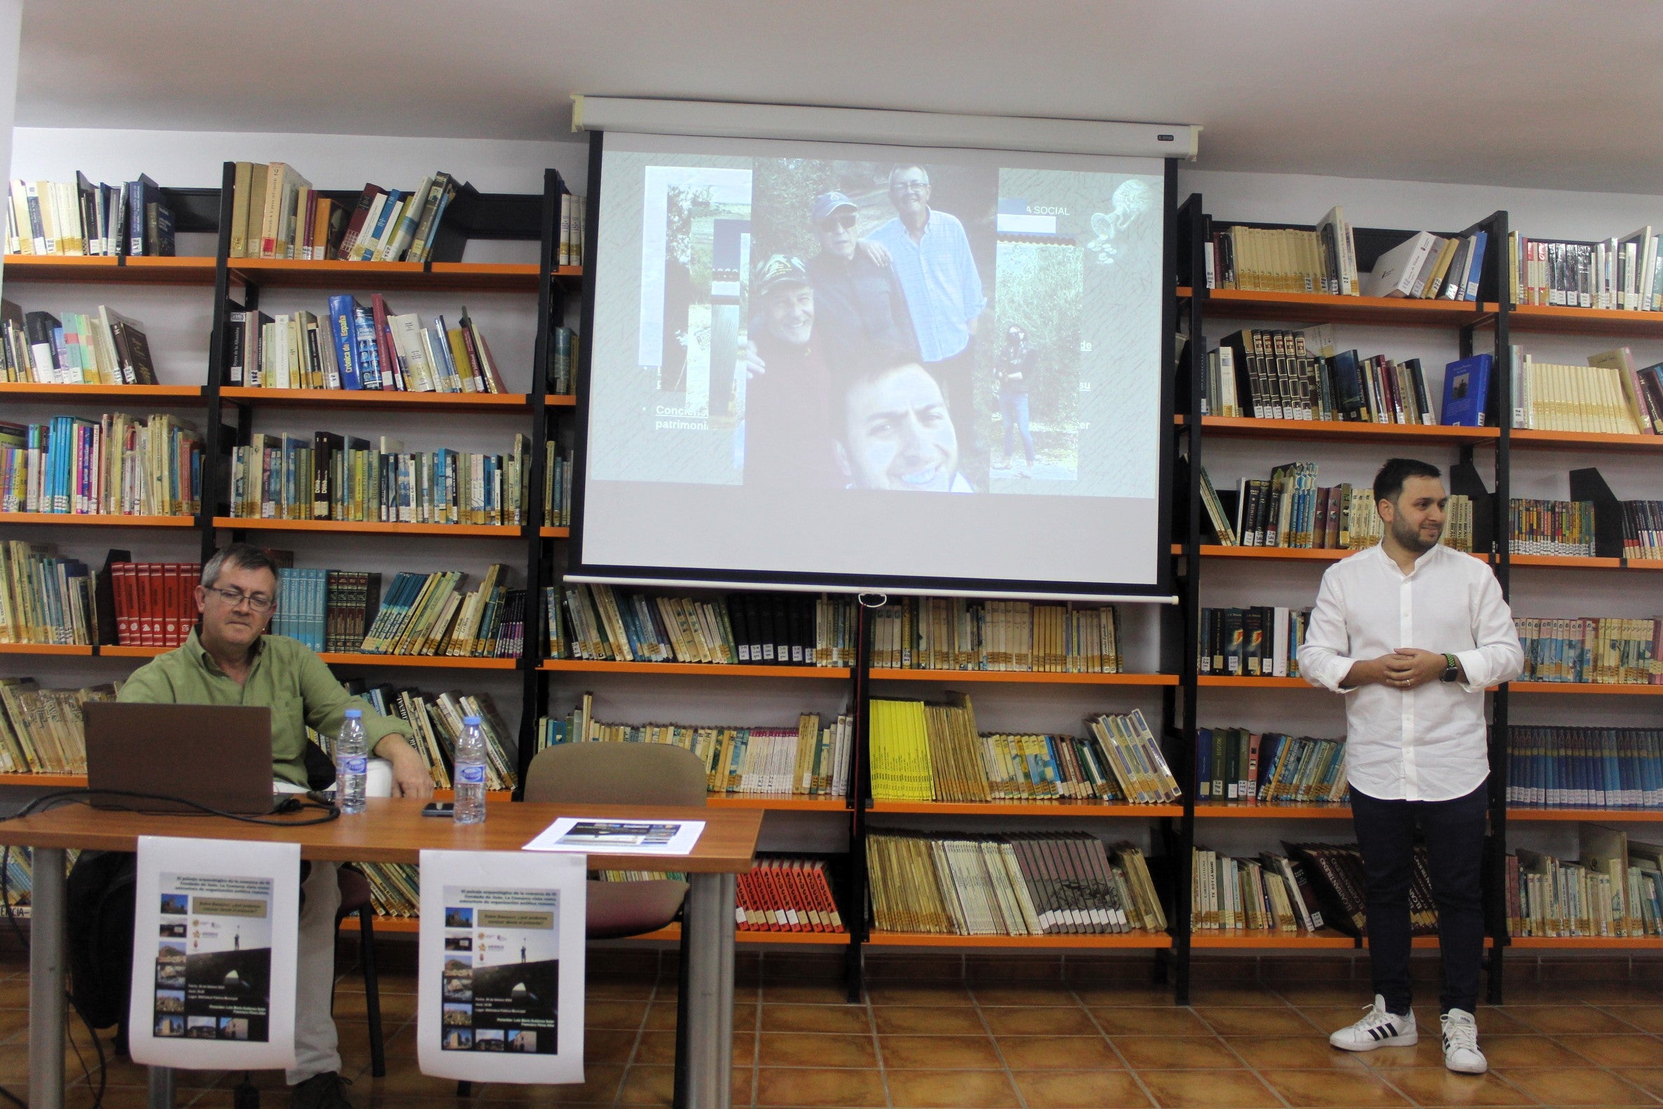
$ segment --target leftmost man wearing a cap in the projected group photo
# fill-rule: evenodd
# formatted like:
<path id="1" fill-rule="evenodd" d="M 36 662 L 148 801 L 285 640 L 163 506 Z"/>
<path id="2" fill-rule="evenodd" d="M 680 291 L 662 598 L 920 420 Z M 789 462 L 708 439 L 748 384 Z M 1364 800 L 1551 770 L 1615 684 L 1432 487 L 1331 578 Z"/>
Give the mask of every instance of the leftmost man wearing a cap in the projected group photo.
<path id="1" fill-rule="evenodd" d="M 841 476 L 827 427 L 832 376 L 803 263 L 772 254 L 757 266 L 750 303 L 745 484 L 835 489 Z"/>

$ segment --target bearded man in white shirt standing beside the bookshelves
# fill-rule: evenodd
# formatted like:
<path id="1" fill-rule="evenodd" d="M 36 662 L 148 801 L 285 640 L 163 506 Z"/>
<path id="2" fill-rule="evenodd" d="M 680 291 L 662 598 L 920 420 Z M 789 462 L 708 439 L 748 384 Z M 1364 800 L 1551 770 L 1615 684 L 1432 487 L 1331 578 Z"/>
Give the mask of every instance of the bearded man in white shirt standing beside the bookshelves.
<path id="1" fill-rule="evenodd" d="M 1380 467 L 1374 500 L 1385 537 L 1322 575 L 1299 672 L 1347 697 L 1345 775 L 1367 883 L 1374 1006 L 1329 1042 L 1372 1051 L 1417 1041 L 1409 883 L 1420 825 L 1443 956 L 1443 1066 L 1482 1074 L 1483 690 L 1515 678 L 1525 658 L 1490 567 L 1438 544 L 1448 504 L 1440 479 L 1414 459 Z"/>

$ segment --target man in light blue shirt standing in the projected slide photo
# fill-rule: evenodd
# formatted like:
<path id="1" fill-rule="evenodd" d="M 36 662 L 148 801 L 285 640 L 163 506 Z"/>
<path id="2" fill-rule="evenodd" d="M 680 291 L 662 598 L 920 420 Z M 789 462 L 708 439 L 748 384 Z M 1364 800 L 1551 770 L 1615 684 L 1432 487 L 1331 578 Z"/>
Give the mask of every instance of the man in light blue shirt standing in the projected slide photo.
<path id="1" fill-rule="evenodd" d="M 923 166 L 890 171 L 890 203 L 895 219 L 873 231 L 871 241 L 888 251 L 906 293 L 925 369 L 946 391 L 953 422 L 973 439 L 973 339 L 988 298 L 970 236 L 955 216 L 930 208 L 930 173 Z"/>

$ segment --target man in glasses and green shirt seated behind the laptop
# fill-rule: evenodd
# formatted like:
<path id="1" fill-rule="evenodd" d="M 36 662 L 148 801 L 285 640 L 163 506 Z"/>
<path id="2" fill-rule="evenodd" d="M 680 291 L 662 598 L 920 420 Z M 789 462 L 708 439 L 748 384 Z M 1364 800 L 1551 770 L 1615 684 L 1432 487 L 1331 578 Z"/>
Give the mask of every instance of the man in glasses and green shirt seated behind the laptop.
<path id="1" fill-rule="evenodd" d="M 364 713 L 369 747 L 392 763 L 392 791 L 432 796 L 432 775 L 404 740 L 409 725 L 351 697 L 323 658 L 298 640 L 266 635 L 278 600 L 278 565 L 248 544 L 231 544 L 203 567 L 196 587 L 201 625 L 183 647 L 140 667 L 116 700 L 271 708 L 271 773 L 306 786 L 306 728 L 334 735 L 348 708 Z M 334 981 L 334 863 L 313 863 L 301 886 L 299 964 L 294 988 L 294 1109 L 351 1109 L 341 1089 L 329 994 Z"/>

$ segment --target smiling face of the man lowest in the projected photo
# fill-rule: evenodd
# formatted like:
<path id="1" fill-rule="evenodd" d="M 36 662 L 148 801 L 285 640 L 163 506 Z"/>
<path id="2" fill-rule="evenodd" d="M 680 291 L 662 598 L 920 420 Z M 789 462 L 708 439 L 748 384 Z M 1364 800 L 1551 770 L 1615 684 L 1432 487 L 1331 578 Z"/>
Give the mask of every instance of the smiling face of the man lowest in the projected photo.
<path id="1" fill-rule="evenodd" d="M 975 492 L 941 384 L 906 354 L 838 379 L 832 431 L 848 489 Z"/>

